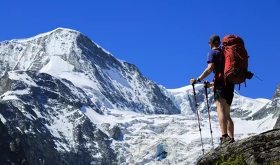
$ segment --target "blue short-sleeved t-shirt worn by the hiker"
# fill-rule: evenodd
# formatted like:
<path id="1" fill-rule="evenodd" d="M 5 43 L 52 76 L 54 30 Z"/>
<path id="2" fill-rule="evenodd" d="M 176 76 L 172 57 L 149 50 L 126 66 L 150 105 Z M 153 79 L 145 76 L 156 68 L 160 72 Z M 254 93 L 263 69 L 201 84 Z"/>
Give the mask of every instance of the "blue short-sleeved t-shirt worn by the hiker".
<path id="1" fill-rule="evenodd" d="M 225 57 L 223 54 L 220 54 L 219 50 L 210 50 L 207 56 L 207 63 L 214 63 L 214 74 L 223 73 L 223 69 L 225 68 Z"/>

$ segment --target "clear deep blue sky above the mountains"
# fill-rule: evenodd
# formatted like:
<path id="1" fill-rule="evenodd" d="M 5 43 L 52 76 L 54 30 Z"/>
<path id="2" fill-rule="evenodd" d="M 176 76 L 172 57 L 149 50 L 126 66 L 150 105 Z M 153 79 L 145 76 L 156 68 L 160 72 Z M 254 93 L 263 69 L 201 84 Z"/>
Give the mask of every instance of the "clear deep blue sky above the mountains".
<path id="1" fill-rule="evenodd" d="M 279 0 L 1 1 L 0 11 L 0 41 L 71 28 L 168 89 L 203 72 L 210 35 L 237 34 L 249 70 L 263 80 L 248 80 L 239 93 L 270 99 L 280 83 Z"/>

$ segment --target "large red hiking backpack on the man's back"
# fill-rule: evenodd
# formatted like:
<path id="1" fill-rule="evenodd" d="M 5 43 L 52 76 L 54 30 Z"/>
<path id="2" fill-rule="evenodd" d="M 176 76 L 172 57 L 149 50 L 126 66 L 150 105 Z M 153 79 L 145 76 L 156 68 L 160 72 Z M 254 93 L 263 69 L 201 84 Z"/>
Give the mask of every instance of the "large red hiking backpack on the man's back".
<path id="1" fill-rule="evenodd" d="M 244 41 L 236 35 L 226 35 L 221 41 L 223 54 L 225 56 L 225 69 L 223 76 L 225 82 L 239 84 L 244 83 L 254 76 L 252 72 L 248 72 L 248 53 L 244 46 Z"/>

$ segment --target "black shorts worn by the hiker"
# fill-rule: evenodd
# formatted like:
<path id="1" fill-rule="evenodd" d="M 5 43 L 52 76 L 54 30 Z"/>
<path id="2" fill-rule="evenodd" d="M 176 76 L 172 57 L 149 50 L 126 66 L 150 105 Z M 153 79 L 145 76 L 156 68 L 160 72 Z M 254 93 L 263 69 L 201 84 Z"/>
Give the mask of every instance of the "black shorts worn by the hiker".
<path id="1" fill-rule="evenodd" d="M 227 104 L 232 104 L 234 95 L 234 84 L 226 83 L 223 80 L 216 80 L 214 82 L 214 100 L 217 98 L 226 99 Z"/>

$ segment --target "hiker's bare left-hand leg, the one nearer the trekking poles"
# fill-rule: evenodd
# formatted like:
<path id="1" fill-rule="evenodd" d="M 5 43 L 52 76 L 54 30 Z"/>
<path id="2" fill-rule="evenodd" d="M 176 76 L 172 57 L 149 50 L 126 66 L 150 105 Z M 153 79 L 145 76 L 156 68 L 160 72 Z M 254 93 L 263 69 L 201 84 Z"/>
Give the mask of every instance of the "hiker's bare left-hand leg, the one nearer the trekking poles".
<path id="1" fill-rule="evenodd" d="M 219 118 L 219 124 L 221 127 L 221 134 L 228 134 L 228 119 L 226 115 L 226 99 L 223 98 L 217 98 L 216 100 L 216 106 L 217 106 L 217 113 Z"/>

